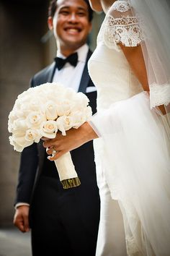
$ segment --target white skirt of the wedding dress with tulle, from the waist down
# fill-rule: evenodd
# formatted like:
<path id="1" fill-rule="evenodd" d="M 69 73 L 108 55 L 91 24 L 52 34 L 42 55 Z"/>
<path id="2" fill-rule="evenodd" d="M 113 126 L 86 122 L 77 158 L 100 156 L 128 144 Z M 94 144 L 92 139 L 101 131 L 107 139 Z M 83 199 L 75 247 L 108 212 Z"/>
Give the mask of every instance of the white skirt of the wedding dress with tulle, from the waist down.
<path id="1" fill-rule="evenodd" d="M 151 110 L 148 94 L 142 92 L 112 103 L 107 109 L 98 108 L 89 124 L 99 135 L 94 140 L 94 151 L 100 193 L 108 195 L 105 201 L 112 198 L 120 205 L 128 255 L 169 256 L 170 132 L 167 116 Z M 114 243 L 110 229 L 115 233 L 112 222 L 116 208 L 106 207 L 108 204 L 104 202 L 101 205 L 105 205 L 100 221 L 105 223 L 105 228 L 100 223 L 103 227 L 99 228 L 99 237 L 107 237 L 108 231 L 109 239 L 102 245 L 98 242 L 97 256 L 121 255 L 116 254 L 112 246 L 108 253 L 102 254 L 106 249 L 101 247 L 107 248 L 108 241 L 109 247 Z M 109 223 L 108 216 L 112 216 Z M 117 230 L 124 244 L 120 229 Z"/>

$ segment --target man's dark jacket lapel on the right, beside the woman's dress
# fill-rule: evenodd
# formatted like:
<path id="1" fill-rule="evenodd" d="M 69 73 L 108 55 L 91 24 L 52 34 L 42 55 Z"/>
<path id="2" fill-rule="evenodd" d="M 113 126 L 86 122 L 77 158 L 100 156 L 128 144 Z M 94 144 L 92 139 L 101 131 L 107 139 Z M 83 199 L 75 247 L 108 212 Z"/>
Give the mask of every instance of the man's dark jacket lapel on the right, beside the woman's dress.
<path id="1" fill-rule="evenodd" d="M 89 84 L 90 77 L 89 77 L 89 73 L 88 73 L 88 69 L 87 69 L 87 62 L 89 61 L 91 54 L 92 54 L 92 52 L 89 50 L 88 54 L 86 56 L 86 63 L 84 66 L 84 71 L 83 71 L 83 74 L 81 77 L 81 82 L 79 85 L 79 92 L 81 92 L 81 93 L 86 93 L 86 87 Z"/>

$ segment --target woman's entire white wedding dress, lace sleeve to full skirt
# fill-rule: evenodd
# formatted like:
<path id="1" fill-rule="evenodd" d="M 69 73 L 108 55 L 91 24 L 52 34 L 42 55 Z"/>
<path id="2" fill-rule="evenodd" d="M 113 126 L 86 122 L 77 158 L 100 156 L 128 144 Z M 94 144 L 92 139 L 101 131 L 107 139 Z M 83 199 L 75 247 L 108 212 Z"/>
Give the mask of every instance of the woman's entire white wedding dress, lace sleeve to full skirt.
<path id="1" fill-rule="evenodd" d="M 112 4 L 89 60 L 97 86 L 97 114 L 89 123 L 99 135 L 94 140 L 101 196 L 96 255 L 124 256 L 126 242 L 130 256 L 169 256 L 169 127 L 166 116 L 151 110 L 148 94 L 117 45 L 137 46 L 143 38 L 136 17 L 127 17 L 128 30 L 121 23 L 128 9 L 128 1 Z"/>

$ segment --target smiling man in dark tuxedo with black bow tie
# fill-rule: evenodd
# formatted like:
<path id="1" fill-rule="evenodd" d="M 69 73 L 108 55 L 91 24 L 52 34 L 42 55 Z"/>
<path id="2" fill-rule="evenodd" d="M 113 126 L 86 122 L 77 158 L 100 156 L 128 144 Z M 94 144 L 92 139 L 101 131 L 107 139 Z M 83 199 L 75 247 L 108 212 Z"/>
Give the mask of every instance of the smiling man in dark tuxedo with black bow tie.
<path id="1" fill-rule="evenodd" d="M 97 92 L 87 71 L 91 56 L 86 45 L 92 19 L 89 1 L 51 1 L 48 10 L 57 56 L 32 77 L 31 86 L 61 82 L 86 93 L 95 112 Z M 48 161 L 42 142 L 22 152 L 14 225 L 22 232 L 31 228 L 33 256 L 95 255 L 100 202 L 92 142 L 73 150 L 71 157 L 81 185 L 63 189 L 55 163 Z"/>

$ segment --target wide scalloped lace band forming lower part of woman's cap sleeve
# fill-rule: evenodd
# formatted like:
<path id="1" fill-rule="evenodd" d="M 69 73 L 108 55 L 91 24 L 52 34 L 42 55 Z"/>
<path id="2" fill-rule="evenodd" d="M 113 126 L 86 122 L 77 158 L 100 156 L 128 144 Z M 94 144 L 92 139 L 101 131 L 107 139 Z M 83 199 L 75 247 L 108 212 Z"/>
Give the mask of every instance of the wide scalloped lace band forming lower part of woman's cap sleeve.
<path id="1" fill-rule="evenodd" d="M 138 46 L 144 36 L 138 24 L 138 17 L 113 18 L 108 15 L 104 27 L 104 43 L 109 48 L 115 48 L 117 43 L 128 47 Z"/>

